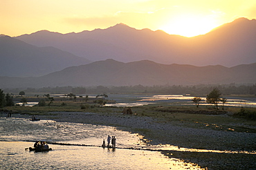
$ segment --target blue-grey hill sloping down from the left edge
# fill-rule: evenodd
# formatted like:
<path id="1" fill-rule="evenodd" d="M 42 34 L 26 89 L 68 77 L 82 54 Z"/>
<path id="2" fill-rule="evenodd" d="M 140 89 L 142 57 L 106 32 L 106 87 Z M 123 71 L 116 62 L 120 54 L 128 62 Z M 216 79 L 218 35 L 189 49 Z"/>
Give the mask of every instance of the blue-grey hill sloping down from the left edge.
<path id="1" fill-rule="evenodd" d="M 88 64 L 88 59 L 54 47 L 37 47 L 19 39 L 0 36 L 0 76 L 41 76 L 69 66 Z"/>

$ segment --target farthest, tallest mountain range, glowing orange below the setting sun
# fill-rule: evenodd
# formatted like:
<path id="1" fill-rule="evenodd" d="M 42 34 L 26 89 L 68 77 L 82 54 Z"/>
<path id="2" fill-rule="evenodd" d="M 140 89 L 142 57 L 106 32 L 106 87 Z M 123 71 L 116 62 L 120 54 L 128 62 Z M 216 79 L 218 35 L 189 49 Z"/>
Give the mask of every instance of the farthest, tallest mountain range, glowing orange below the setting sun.
<path id="1" fill-rule="evenodd" d="M 237 66 L 256 62 L 256 20 L 236 19 L 205 35 L 181 37 L 125 24 L 107 29 L 60 34 L 42 30 L 16 37 L 35 46 L 53 46 L 91 61 L 149 59 L 161 64 Z"/>

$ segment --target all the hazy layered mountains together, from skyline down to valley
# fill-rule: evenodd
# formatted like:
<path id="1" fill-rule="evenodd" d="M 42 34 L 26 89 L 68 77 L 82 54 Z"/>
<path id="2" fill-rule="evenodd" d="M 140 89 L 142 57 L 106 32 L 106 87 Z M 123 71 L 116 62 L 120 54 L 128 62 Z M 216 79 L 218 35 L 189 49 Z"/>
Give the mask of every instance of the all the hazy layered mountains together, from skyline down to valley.
<path id="1" fill-rule="evenodd" d="M 0 88 L 255 84 L 255 47 L 256 20 L 244 18 L 191 38 L 124 24 L 0 36 Z"/>

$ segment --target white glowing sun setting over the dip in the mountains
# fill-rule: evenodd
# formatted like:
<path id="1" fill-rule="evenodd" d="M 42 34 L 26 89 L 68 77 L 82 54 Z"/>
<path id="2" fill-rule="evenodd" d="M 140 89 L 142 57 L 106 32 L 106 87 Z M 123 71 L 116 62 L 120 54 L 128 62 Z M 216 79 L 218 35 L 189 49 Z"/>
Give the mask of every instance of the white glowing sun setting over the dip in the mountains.
<path id="1" fill-rule="evenodd" d="M 168 21 L 160 29 L 170 35 L 194 37 L 196 35 L 204 35 L 216 27 L 216 22 L 209 16 L 179 15 Z"/>

